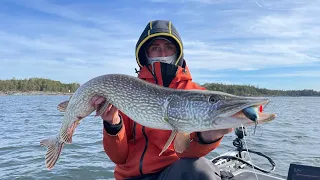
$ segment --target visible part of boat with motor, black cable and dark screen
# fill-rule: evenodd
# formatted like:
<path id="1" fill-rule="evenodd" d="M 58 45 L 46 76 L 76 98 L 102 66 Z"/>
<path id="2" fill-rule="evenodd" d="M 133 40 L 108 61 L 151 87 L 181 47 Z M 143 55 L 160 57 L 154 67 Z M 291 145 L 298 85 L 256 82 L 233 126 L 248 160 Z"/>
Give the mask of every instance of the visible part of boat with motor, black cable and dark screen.
<path id="1" fill-rule="evenodd" d="M 235 150 L 223 153 L 213 159 L 220 170 L 222 180 L 320 180 L 320 167 L 291 163 L 286 177 L 272 173 L 275 170 L 275 162 L 267 155 L 245 149 L 243 138 L 246 136 L 245 128 L 236 128 L 237 138 L 233 140 Z M 254 165 L 250 154 L 255 154 L 266 158 L 271 168 L 265 170 Z"/>

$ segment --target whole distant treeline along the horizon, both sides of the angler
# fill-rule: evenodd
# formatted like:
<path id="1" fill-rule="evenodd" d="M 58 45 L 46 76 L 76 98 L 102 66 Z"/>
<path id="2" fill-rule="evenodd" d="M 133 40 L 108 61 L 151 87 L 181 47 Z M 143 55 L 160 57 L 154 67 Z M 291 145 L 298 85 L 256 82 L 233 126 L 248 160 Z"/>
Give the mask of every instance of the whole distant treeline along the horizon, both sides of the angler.
<path id="1" fill-rule="evenodd" d="M 203 84 L 208 90 L 222 91 L 234 95 L 243 96 L 320 96 L 319 91 L 314 90 L 270 90 L 259 88 L 252 85 L 226 85 L 221 83 Z M 80 87 L 78 83 L 64 84 L 60 81 L 54 81 L 44 78 L 30 78 L 17 80 L 0 80 L 0 91 L 43 91 L 43 92 L 63 92 L 73 93 Z"/>

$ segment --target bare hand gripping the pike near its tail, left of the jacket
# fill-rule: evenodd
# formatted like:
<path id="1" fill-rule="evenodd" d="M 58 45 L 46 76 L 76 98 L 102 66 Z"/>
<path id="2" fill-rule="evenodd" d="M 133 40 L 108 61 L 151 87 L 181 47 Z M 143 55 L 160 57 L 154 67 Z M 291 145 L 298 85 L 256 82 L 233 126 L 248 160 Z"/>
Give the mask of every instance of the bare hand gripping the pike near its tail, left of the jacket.
<path id="1" fill-rule="evenodd" d="M 102 96 L 93 96 L 90 100 L 90 104 L 96 109 L 96 113 L 98 113 L 105 103 L 106 99 Z M 107 109 L 100 116 L 111 125 L 120 123 L 119 110 L 111 104 L 108 105 Z"/>

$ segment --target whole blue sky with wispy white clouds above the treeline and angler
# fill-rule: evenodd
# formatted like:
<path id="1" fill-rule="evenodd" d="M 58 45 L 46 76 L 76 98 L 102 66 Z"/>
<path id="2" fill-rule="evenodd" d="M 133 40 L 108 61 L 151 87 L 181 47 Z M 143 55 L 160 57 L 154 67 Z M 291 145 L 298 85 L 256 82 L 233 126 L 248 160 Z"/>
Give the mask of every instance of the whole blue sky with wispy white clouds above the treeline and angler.
<path id="1" fill-rule="evenodd" d="M 320 1 L 2 0 L 0 79 L 136 75 L 150 20 L 178 29 L 194 81 L 320 91 Z"/>

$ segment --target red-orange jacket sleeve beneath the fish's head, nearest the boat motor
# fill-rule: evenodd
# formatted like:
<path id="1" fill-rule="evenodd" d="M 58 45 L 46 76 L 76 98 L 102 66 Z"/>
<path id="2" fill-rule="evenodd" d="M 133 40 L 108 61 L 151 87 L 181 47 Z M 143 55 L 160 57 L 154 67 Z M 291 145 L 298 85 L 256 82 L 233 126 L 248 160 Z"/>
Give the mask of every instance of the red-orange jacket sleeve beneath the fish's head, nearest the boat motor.
<path id="1" fill-rule="evenodd" d="M 200 158 L 216 149 L 222 140 L 222 137 L 212 143 L 205 143 L 199 139 L 198 133 L 191 133 L 190 146 L 183 153 L 177 153 L 180 158 Z"/>

